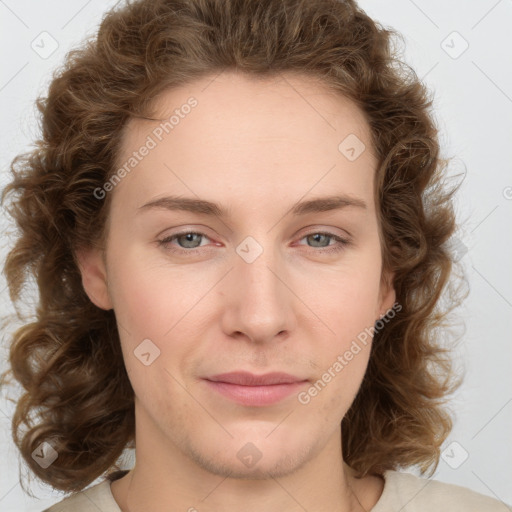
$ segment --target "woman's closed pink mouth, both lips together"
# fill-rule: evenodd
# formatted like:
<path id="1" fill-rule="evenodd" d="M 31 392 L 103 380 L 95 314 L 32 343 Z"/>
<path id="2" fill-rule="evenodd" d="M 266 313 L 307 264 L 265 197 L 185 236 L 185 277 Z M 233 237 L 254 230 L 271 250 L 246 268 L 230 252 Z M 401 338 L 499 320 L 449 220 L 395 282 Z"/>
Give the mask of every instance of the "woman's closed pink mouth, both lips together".
<path id="1" fill-rule="evenodd" d="M 246 406 L 266 406 L 278 403 L 297 393 L 307 379 L 282 372 L 255 375 L 231 372 L 204 379 L 208 387 L 236 403 Z"/>

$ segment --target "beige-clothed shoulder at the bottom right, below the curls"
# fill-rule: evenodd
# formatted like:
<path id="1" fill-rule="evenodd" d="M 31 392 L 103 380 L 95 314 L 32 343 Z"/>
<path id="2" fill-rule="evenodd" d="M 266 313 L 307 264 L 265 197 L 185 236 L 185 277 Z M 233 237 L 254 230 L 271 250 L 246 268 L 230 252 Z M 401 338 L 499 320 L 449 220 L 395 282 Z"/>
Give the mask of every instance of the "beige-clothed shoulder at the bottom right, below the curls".
<path id="1" fill-rule="evenodd" d="M 384 479 L 384 491 L 371 512 L 512 512 L 502 501 L 459 485 L 398 471 L 387 471 Z"/>

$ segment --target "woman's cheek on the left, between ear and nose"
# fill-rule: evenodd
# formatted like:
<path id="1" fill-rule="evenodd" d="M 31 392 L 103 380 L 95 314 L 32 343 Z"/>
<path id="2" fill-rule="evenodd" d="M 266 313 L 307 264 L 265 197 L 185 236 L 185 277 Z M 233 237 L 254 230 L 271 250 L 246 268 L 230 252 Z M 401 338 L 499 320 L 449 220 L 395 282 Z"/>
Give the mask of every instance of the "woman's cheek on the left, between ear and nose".
<path id="1" fill-rule="evenodd" d="M 180 379 L 180 366 L 187 367 L 197 357 L 199 347 L 184 340 L 193 339 L 194 333 L 202 329 L 194 309 L 199 311 L 200 298 L 211 288 L 209 280 L 177 267 L 152 264 L 149 258 L 130 254 L 129 250 L 124 251 L 122 259 L 113 254 L 111 261 L 119 262 L 111 265 L 109 287 L 125 366 L 134 389 L 143 392 L 151 378 L 165 370 Z M 154 362 L 146 366 L 144 358 L 147 363 Z M 168 377 L 162 374 L 158 378 Z M 146 382 L 146 378 L 150 380 Z M 169 382 L 158 383 L 159 388 L 162 385 L 168 386 Z"/>

